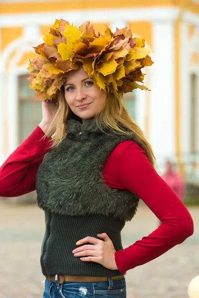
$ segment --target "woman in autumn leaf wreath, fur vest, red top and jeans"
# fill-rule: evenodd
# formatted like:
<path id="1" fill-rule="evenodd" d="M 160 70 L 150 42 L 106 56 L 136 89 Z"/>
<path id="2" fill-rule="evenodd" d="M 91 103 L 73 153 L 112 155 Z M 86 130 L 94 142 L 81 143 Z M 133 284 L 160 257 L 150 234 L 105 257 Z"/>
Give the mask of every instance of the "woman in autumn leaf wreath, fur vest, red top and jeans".
<path id="1" fill-rule="evenodd" d="M 29 65 L 43 119 L 0 168 L 0 196 L 37 190 L 45 212 L 43 298 L 126 297 L 124 274 L 183 242 L 192 218 L 154 169 L 122 94 L 145 88 L 149 50 L 129 29 L 96 35 L 56 20 Z M 123 249 L 139 198 L 162 224 Z"/>

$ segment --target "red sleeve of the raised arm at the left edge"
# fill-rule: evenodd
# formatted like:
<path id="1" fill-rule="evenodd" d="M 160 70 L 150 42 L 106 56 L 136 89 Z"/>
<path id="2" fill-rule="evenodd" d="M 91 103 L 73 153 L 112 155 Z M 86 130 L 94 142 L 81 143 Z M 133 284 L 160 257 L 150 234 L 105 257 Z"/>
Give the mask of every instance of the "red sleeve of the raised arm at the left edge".
<path id="1" fill-rule="evenodd" d="M 17 197 L 35 190 L 38 167 L 52 141 L 39 126 L 0 167 L 0 196 Z"/>

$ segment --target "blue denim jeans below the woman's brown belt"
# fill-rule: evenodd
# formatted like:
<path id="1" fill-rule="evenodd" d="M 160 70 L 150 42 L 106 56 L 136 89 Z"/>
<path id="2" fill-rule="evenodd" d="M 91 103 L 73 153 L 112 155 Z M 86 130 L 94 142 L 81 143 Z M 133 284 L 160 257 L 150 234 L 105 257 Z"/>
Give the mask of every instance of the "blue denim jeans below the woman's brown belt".
<path id="1" fill-rule="evenodd" d="M 43 298 L 126 298 L 126 282 L 124 277 L 115 281 L 108 278 L 108 282 L 63 285 L 46 280 Z"/>

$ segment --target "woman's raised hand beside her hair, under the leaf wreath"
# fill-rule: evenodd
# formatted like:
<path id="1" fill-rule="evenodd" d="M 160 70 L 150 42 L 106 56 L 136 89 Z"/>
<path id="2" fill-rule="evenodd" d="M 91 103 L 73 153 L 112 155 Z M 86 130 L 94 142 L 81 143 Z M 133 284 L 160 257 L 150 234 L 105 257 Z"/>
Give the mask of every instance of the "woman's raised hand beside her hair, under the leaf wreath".
<path id="1" fill-rule="evenodd" d="M 42 101 L 42 121 L 39 127 L 44 133 L 46 133 L 55 118 L 55 114 L 58 109 L 58 104 L 56 104 L 53 99 Z M 52 134 L 54 133 L 52 129 Z"/>

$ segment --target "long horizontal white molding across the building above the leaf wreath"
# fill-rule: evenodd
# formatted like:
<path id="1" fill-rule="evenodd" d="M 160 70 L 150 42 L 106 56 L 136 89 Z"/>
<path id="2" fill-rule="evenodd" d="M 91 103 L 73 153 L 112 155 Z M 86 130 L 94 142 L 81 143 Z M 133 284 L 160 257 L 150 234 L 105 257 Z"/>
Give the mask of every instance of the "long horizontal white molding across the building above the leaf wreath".
<path id="1" fill-rule="evenodd" d="M 10 13 L 0 16 L 0 27 L 33 25 L 51 25 L 55 18 L 63 18 L 75 25 L 80 25 L 86 20 L 93 23 L 113 22 L 124 16 L 128 21 L 170 21 L 178 17 L 179 8 L 177 7 L 147 7 L 147 8 L 104 8 L 104 9 L 85 9 L 85 10 L 67 10 L 55 12 L 35 12 L 35 13 Z"/>

